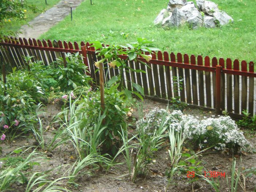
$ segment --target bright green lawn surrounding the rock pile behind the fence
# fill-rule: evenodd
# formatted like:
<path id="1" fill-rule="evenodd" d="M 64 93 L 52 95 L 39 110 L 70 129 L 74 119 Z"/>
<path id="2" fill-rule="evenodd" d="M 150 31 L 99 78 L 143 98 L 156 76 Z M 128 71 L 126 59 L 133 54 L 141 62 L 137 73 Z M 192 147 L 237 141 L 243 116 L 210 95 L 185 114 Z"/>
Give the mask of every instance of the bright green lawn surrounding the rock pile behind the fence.
<path id="1" fill-rule="evenodd" d="M 153 21 L 168 0 L 95 0 L 93 5 L 87 0 L 74 11 L 73 21 L 67 16 L 41 38 L 125 44 L 145 37 L 169 52 L 256 61 L 255 1 L 213 1 L 233 17 L 233 24 L 222 29 L 162 29 Z"/>

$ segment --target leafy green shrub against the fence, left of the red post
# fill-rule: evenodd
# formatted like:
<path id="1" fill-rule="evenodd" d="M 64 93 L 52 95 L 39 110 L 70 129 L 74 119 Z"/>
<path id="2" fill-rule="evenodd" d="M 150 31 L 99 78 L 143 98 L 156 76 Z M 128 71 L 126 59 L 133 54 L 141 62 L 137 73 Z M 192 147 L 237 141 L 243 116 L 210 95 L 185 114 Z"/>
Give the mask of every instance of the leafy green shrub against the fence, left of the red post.
<path id="1" fill-rule="evenodd" d="M 47 66 L 42 61 L 30 62 L 30 74 L 41 82 L 45 90 L 60 86 L 61 91 L 70 91 L 79 86 L 87 86 L 91 78 L 86 75 L 87 67 L 79 53 L 67 53 L 65 57 L 67 67 L 64 67 L 63 58 Z"/>

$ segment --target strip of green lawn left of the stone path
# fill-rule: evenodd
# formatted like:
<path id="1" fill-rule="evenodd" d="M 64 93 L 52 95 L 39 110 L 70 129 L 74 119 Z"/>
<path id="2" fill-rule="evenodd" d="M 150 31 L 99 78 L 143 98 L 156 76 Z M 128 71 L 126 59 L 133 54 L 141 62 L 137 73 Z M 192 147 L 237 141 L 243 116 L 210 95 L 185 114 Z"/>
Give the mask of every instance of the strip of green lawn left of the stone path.
<path id="1" fill-rule="evenodd" d="M 48 10 L 49 8 L 53 7 L 53 5 L 57 4 L 60 0 L 47 0 L 47 5 L 45 4 L 45 0 L 26 0 L 29 4 L 33 4 L 39 9 L 42 9 L 43 11 Z M 37 13 L 33 13 L 31 10 L 27 10 L 27 19 L 26 20 L 12 20 L 11 23 L 6 23 L 3 26 L 3 31 L 19 31 L 20 27 L 22 25 L 27 24 L 31 20 L 33 20 L 36 16 L 41 14 L 40 11 Z M 6 32 L 4 32 L 6 35 L 8 35 Z"/>

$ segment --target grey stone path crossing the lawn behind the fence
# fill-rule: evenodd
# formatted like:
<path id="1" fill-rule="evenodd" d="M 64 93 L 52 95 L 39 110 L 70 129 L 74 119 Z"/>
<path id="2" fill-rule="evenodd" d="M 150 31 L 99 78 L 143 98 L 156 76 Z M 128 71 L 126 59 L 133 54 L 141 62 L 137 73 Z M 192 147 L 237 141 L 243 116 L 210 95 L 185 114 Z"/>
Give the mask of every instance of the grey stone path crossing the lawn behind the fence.
<path id="1" fill-rule="evenodd" d="M 22 26 L 22 34 L 19 34 L 19 37 L 38 38 L 70 14 L 70 5 L 72 10 L 75 10 L 82 1 L 61 0 L 54 7 L 34 18 L 28 25 Z"/>

